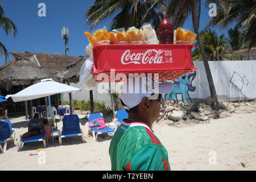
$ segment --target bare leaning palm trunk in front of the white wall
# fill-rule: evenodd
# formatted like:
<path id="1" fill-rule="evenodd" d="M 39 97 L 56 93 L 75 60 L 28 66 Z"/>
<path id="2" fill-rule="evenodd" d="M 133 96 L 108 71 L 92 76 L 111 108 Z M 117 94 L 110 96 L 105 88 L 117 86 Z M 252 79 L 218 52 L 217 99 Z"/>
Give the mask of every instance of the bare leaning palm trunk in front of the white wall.
<path id="1" fill-rule="evenodd" d="M 219 110 L 220 109 L 220 103 L 218 102 L 218 98 L 217 98 L 217 94 L 216 94 L 216 90 L 215 90 L 215 86 L 214 86 L 214 82 L 213 82 L 213 78 L 212 78 L 212 73 L 210 72 L 210 67 L 209 67 L 209 63 L 208 63 L 208 60 L 207 60 L 207 56 L 205 54 L 203 43 L 201 42 L 201 38 L 200 38 L 200 34 L 199 34 L 199 27 L 197 26 L 197 23 L 196 23 L 196 0 L 192 0 L 192 21 L 193 21 L 194 30 L 197 34 L 196 39 L 197 39 L 197 42 L 199 44 L 201 56 L 203 57 L 204 69 L 205 69 L 205 72 L 206 72 L 206 75 L 207 75 L 207 80 L 208 80 L 209 89 L 210 89 L 212 109 Z M 199 20 L 197 20 L 197 22 L 199 22 Z"/>

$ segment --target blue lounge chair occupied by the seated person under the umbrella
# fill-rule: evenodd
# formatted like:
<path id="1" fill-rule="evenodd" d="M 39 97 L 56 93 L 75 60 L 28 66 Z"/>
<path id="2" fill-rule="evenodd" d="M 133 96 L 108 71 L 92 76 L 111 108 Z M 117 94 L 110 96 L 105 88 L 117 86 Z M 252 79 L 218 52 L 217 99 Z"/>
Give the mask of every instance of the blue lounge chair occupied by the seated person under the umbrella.
<path id="1" fill-rule="evenodd" d="M 39 118 L 39 121 L 43 121 L 45 118 Z M 30 123 L 34 122 L 34 119 L 30 119 L 30 121 L 28 121 L 27 125 L 28 127 L 30 126 Z M 46 141 L 44 140 L 46 136 L 46 131 L 45 130 L 41 130 L 39 135 L 33 136 L 33 137 L 28 137 L 28 138 L 23 138 L 22 140 L 19 141 L 17 147 L 18 150 L 21 150 L 23 147 L 24 143 L 31 143 L 31 142 L 43 142 L 44 143 L 44 147 L 46 147 Z"/>

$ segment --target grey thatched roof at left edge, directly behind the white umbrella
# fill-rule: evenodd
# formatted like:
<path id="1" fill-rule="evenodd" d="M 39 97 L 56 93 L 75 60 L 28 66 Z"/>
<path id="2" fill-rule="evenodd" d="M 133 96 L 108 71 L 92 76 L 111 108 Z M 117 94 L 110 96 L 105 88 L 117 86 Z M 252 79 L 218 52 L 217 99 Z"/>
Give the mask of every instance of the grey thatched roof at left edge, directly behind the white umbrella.
<path id="1" fill-rule="evenodd" d="M 0 86 L 9 90 L 12 86 L 32 85 L 44 78 L 58 78 L 47 72 L 44 68 L 39 68 L 30 60 L 18 60 L 0 71 Z"/>

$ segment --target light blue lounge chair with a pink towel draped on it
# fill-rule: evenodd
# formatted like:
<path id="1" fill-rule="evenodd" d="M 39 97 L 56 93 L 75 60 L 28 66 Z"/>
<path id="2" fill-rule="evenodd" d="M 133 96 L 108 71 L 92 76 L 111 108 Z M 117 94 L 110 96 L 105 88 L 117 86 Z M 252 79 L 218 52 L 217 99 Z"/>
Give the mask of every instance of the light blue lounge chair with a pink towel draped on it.
<path id="1" fill-rule="evenodd" d="M 89 122 L 93 121 L 94 119 L 103 118 L 102 113 L 88 114 L 87 118 L 88 118 L 88 122 L 85 123 L 87 135 L 89 135 L 89 132 L 92 131 L 94 141 L 97 140 L 97 137 L 99 134 L 111 133 L 112 135 L 114 135 L 115 130 L 108 126 L 105 129 L 94 129 L 93 127 L 89 127 Z"/>

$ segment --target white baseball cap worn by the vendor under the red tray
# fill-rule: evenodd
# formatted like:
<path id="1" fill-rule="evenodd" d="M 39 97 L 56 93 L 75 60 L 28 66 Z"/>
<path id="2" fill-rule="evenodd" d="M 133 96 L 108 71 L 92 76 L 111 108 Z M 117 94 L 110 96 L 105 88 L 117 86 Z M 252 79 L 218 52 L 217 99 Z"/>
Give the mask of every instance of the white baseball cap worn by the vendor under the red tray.
<path id="1" fill-rule="evenodd" d="M 152 93 L 165 94 L 171 92 L 172 83 L 158 83 L 151 78 L 129 77 L 122 86 L 121 100 L 126 109 L 137 106 L 144 97 L 149 97 Z M 157 97 L 156 97 L 157 99 Z"/>

